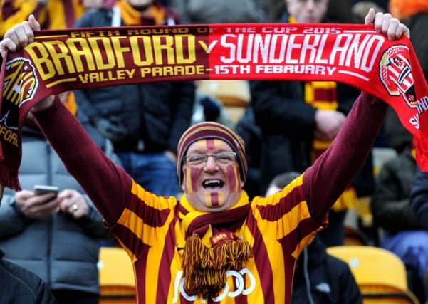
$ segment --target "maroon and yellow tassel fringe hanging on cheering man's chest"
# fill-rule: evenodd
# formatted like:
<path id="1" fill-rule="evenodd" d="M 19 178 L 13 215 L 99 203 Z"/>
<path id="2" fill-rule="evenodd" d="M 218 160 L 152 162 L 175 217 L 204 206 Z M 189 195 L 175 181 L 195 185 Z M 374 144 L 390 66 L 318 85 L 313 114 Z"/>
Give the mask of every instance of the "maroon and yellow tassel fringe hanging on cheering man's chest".
<path id="1" fill-rule="evenodd" d="M 226 285 L 226 271 L 240 271 L 252 255 L 244 239 L 207 248 L 197 234 L 189 236 L 183 256 L 184 290 L 205 299 L 216 297 Z"/>

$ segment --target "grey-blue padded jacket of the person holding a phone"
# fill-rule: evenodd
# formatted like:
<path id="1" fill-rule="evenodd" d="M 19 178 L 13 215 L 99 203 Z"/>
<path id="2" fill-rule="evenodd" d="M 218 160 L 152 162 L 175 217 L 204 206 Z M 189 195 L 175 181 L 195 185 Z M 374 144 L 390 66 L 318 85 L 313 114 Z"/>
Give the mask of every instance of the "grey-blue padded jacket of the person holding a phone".
<path id="1" fill-rule="evenodd" d="M 84 119 L 80 122 L 113 158 L 111 143 L 108 145 Z M 75 189 L 83 194 L 89 214 L 73 219 L 58 212 L 45 219 L 28 219 L 15 206 L 15 192 L 6 188 L 0 206 L 0 248 L 8 261 L 36 273 L 52 289 L 97 294 L 98 239 L 111 237 L 103 227 L 102 216 L 39 130 L 24 127 L 22 139 L 21 187 L 32 190 L 35 184 L 46 184 L 58 186 L 60 192 Z"/>

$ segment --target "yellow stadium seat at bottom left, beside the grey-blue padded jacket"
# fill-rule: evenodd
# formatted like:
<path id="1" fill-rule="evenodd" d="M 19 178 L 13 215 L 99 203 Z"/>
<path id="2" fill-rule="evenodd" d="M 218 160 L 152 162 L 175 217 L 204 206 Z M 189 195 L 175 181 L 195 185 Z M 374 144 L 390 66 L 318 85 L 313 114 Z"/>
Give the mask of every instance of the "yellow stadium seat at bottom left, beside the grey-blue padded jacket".
<path id="1" fill-rule="evenodd" d="M 100 304 L 134 304 L 135 281 L 130 257 L 118 247 L 101 247 L 98 261 Z"/>

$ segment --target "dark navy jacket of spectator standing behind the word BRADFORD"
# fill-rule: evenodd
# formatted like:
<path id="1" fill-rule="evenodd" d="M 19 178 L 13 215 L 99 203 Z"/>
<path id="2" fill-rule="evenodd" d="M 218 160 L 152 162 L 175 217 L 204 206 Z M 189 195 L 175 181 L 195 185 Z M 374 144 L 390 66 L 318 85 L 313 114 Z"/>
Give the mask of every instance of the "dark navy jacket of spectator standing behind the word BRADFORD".
<path id="1" fill-rule="evenodd" d="M 169 10 L 166 11 L 169 14 Z M 76 27 L 110 26 L 112 11 L 88 11 Z M 168 16 L 166 16 L 167 18 Z M 116 152 L 137 150 L 177 151 L 179 137 L 190 125 L 194 104 L 192 82 L 161 82 L 75 90 L 79 108 L 95 123 L 99 117 L 125 127 L 126 135 L 115 140 Z"/>

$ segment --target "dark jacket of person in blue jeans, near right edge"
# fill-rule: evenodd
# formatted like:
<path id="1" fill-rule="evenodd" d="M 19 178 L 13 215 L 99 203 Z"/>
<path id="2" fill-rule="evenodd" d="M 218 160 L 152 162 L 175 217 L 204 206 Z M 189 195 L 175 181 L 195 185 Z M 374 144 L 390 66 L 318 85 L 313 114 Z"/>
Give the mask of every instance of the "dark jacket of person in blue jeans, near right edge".
<path id="1" fill-rule="evenodd" d="M 385 162 L 376 177 L 375 193 L 370 204 L 376 226 L 392 234 L 421 229 L 409 201 L 415 174 L 416 161 L 410 148 Z"/>

